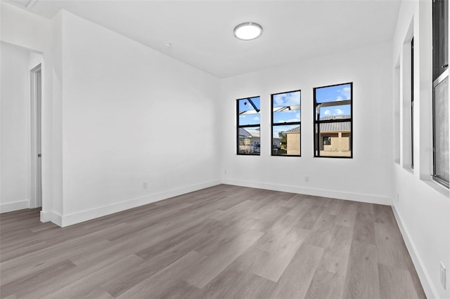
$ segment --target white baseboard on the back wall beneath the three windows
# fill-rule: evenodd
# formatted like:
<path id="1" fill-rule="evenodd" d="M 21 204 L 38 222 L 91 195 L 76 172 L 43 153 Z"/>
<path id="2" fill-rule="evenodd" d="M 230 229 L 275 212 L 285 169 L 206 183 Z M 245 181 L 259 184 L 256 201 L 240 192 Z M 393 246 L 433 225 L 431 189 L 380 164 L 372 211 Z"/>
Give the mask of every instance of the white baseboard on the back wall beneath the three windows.
<path id="1" fill-rule="evenodd" d="M 390 197 L 380 197 L 378 195 L 373 195 L 373 194 L 359 194 L 359 193 L 341 192 L 341 191 L 335 191 L 335 190 L 323 190 L 323 189 L 298 187 L 298 186 L 292 186 L 292 185 L 276 185 L 276 184 L 269 184 L 266 182 L 254 182 L 254 181 L 249 181 L 249 180 L 222 179 L 221 182 L 223 184 L 228 184 L 228 185 L 253 187 L 253 188 L 259 188 L 259 189 L 265 189 L 265 190 L 291 192 L 291 193 L 298 193 L 298 194 L 307 194 L 307 195 L 313 195 L 313 196 L 317 196 L 317 197 L 331 197 L 331 198 L 335 198 L 335 199 L 361 201 L 361 202 L 367 202 L 369 204 L 384 204 L 387 206 L 390 206 L 392 204 L 392 199 L 390 199 Z"/>

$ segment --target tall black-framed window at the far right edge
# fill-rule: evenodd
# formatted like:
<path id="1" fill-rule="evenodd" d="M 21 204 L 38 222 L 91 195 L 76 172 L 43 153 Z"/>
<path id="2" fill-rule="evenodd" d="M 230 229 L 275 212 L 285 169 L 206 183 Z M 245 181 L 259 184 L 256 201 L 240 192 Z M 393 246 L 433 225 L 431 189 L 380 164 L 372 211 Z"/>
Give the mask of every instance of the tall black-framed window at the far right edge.
<path id="1" fill-rule="evenodd" d="M 433 1 L 433 179 L 449 187 L 449 2 Z"/>

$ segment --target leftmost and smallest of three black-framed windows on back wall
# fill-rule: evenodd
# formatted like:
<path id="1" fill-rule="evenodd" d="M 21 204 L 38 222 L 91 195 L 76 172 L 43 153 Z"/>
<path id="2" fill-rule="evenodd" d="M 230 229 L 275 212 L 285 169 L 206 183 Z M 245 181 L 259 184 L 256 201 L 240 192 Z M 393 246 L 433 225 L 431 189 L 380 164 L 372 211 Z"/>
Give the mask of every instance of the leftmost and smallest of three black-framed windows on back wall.
<path id="1" fill-rule="evenodd" d="M 259 155 L 260 102 L 259 97 L 243 98 L 236 101 L 238 114 L 237 151 L 238 154 Z"/>

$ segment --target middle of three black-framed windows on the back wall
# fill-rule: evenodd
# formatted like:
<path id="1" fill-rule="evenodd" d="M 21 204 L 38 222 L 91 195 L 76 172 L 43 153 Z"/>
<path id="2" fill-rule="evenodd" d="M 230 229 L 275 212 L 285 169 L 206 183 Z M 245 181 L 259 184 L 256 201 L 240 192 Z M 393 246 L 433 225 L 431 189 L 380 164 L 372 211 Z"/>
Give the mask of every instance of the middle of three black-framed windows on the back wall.
<path id="1" fill-rule="evenodd" d="M 301 91 L 272 95 L 272 156 L 300 156 Z"/>

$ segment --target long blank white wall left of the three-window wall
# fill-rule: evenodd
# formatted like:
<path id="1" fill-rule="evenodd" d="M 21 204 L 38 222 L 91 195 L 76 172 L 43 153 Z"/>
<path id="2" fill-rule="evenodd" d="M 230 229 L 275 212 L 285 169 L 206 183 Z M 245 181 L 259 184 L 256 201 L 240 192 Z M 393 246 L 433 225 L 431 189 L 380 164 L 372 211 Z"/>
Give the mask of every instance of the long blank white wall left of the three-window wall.
<path id="1" fill-rule="evenodd" d="M 63 226 L 219 183 L 219 79 L 65 11 L 62 36 Z"/>

